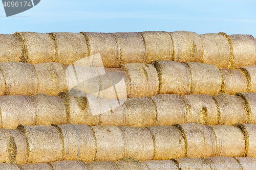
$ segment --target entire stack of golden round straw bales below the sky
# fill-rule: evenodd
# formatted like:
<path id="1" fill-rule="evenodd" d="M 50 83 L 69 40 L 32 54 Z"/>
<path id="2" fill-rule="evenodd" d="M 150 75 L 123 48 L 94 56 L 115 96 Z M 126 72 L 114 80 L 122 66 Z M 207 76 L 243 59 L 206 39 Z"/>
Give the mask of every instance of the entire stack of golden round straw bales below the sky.
<path id="1" fill-rule="evenodd" d="M 4 170 L 256 169 L 256 39 L 1 34 L 0 115 Z"/>

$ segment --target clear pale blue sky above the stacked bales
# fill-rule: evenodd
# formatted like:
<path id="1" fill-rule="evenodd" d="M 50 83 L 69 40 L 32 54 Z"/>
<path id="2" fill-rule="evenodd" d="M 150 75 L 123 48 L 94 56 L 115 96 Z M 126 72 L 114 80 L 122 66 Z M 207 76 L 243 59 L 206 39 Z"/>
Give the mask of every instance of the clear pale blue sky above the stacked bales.
<path id="1" fill-rule="evenodd" d="M 256 1 L 80 1 L 41 0 L 6 17 L 0 6 L 0 33 L 32 32 L 225 32 L 256 37 Z"/>

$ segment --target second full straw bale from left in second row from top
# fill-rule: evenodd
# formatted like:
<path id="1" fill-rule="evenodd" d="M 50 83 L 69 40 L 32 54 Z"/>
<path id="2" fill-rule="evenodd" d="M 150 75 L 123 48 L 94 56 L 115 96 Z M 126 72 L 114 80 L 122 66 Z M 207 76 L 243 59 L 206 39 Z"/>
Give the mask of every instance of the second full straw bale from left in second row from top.
<path id="1" fill-rule="evenodd" d="M 67 91 L 66 68 L 60 63 L 40 63 L 34 65 L 38 79 L 38 93 L 58 95 Z"/>

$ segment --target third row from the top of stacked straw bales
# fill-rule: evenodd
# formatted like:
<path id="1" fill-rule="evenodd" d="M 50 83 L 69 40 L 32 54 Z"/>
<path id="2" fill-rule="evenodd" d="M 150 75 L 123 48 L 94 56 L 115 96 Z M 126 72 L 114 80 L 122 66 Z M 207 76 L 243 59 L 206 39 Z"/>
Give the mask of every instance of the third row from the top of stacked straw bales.
<path id="1" fill-rule="evenodd" d="M 109 105 L 112 101 L 101 102 Z M 60 96 L 42 93 L 0 96 L 0 128 L 52 124 L 132 127 L 190 122 L 203 125 L 256 124 L 256 93 L 220 93 L 215 96 L 159 94 L 151 98 L 129 98 L 123 104 L 109 106 L 108 110 L 96 115 L 93 110 L 100 108 L 97 101 L 95 103 L 69 93 L 61 93 Z"/>

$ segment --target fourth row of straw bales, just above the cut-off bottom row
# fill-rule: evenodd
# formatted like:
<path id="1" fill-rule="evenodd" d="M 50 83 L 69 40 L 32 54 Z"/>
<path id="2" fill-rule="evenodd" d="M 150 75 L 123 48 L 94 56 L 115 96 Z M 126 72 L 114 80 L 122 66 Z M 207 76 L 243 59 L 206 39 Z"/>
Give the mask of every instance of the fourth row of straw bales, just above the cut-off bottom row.
<path id="1" fill-rule="evenodd" d="M 0 162 L 139 161 L 182 157 L 255 157 L 256 125 L 188 123 L 146 128 L 58 125 L 0 129 Z"/>

